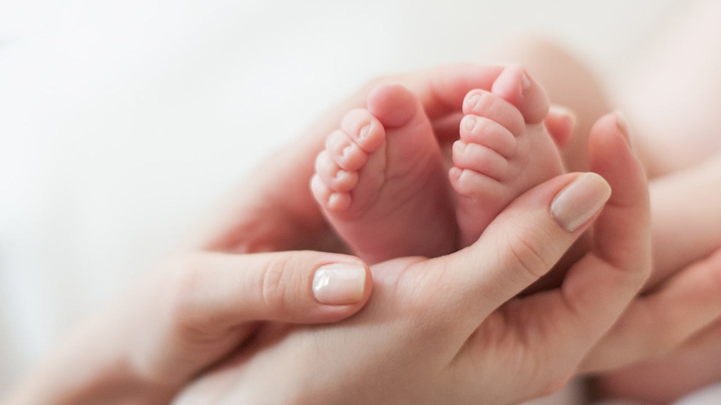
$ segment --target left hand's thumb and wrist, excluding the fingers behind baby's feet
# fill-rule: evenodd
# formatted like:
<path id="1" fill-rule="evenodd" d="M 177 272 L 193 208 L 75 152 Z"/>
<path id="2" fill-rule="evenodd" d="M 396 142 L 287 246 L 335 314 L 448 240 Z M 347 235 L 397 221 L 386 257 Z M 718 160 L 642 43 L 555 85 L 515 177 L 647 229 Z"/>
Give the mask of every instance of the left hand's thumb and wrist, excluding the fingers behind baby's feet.
<path id="1" fill-rule="evenodd" d="M 76 329 L 4 403 L 167 403 L 259 321 L 338 321 L 370 293 L 366 264 L 342 254 L 186 254 Z"/>

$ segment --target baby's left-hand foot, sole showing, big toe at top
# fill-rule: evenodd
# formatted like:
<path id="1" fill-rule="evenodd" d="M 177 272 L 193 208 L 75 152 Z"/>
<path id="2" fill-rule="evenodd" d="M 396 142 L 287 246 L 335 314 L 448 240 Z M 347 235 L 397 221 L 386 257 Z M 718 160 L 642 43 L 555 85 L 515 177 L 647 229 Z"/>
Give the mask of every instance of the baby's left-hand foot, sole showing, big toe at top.
<path id="1" fill-rule="evenodd" d="M 418 99 L 400 85 L 348 112 L 316 160 L 311 191 L 335 231 L 370 263 L 435 257 L 458 229 L 438 143 Z"/>

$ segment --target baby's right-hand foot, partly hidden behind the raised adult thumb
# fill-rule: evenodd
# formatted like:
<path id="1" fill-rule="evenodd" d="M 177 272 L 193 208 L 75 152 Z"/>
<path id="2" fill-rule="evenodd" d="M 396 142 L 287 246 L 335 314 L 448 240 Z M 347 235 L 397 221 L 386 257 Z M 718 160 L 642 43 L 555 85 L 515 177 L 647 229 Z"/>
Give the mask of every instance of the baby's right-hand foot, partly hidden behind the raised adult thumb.
<path id="1" fill-rule="evenodd" d="M 496 79 L 492 93 L 466 94 L 461 138 L 454 143 L 454 166 L 448 171 L 456 190 L 460 247 L 476 241 L 518 195 L 565 172 L 554 139 L 541 122 L 548 99 L 534 86 L 538 84 L 523 68 L 510 66 Z"/>

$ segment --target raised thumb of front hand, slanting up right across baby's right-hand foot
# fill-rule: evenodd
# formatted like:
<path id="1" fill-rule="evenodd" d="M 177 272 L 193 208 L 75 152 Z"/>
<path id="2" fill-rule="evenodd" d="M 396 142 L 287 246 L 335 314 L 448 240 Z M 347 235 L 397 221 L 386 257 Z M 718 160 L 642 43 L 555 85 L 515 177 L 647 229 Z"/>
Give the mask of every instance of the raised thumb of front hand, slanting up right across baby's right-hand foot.
<path id="1" fill-rule="evenodd" d="M 457 293 L 448 299 L 465 311 L 472 306 L 477 316 L 469 317 L 470 326 L 477 327 L 553 267 L 598 215 L 610 192 L 593 173 L 565 174 L 535 187 L 498 215 L 476 243 L 425 262 L 430 269 L 445 270 L 435 274 L 446 277 L 425 277 L 431 280 L 428 288 L 452 285 L 448 290 Z"/>

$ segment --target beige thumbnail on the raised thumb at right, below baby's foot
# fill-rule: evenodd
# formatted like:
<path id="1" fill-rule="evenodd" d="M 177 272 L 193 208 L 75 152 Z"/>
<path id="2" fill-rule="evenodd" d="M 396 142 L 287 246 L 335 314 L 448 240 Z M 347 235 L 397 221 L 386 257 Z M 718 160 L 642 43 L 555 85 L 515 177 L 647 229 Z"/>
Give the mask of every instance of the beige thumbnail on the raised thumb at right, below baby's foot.
<path id="1" fill-rule="evenodd" d="M 561 228 L 573 232 L 596 215 L 611 197 L 611 187 L 596 173 L 581 174 L 551 203 L 551 216 Z"/>

